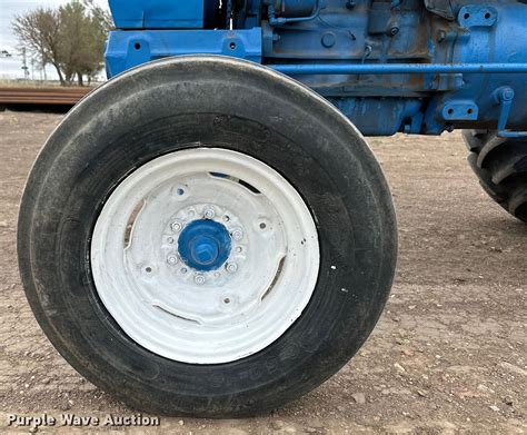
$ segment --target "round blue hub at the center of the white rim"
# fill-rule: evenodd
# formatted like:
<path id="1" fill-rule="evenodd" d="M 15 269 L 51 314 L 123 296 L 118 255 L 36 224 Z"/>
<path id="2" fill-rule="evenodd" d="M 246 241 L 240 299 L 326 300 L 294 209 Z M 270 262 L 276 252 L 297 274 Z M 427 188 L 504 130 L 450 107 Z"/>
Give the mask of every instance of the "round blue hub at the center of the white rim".
<path id="1" fill-rule="evenodd" d="M 209 219 L 195 220 L 181 231 L 179 256 L 185 264 L 199 271 L 219 268 L 230 255 L 230 236 L 227 228 Z"/>

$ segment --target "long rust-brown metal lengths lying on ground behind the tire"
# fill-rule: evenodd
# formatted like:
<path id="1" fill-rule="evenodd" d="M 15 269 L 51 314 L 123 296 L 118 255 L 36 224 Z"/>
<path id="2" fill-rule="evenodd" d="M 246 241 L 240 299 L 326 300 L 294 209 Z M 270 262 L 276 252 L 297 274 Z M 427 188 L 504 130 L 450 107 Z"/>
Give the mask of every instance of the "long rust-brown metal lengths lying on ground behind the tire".
<path id="1" fill-rule="evenodd" d="M 0 105 L 73 106 L 93 88 L 0 88 Z"/>

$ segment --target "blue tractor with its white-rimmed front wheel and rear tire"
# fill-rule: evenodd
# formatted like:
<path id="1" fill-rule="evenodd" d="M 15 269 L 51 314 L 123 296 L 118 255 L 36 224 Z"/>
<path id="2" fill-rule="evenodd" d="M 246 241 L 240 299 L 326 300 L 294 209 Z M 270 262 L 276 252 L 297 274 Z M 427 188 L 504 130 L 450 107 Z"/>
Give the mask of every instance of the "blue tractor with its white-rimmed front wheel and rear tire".
<path id="1" fill-rule="evenodd" d="M 57 349 L 131 406 L 252 415 L 358 350 L 397 255 L 365 136 L 464 129 L 527 221 L 526 1 L 110 7 L 110 80 L 40 152 L 19 263 Z"/>

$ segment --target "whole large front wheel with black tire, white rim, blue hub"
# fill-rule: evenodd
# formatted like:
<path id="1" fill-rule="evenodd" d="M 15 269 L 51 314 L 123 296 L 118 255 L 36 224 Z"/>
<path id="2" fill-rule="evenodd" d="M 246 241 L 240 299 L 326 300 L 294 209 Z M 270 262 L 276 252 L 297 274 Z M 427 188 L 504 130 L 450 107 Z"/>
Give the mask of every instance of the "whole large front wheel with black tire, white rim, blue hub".
<path id="1" fill-rule="evenodd" d="M 285 405 L 359 349 L 397 229 L 380 166 L 326 100 L 251 62 L 177 57 L 62 120 L 29 176 L 18 254 L 40 326 L 80 374 L 137 409 L 226 418 Z"/>

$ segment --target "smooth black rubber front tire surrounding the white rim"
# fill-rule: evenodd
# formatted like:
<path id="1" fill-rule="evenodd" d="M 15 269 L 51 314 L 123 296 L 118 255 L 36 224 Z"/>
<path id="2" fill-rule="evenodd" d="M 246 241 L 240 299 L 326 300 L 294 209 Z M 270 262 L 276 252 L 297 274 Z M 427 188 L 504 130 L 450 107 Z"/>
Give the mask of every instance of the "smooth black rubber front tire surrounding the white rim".
<path id="1" fill-rule="evenodd" d="M 375 158 L 332 107 L 265 68 L 199 59 L 130 71 L 63 120 L 24 191 L 20 269 L 46 334 L 95 384 L 146 411 L 247 415 L 312 389 L 365 342 L 391 284 L 395 215 Z M 91 277 L 90 237 L 105 200 L 141 165 L 191 147 L 272 167 L 302 196 L 319 234 L 319 277 L 300 318 L 266 349 L 228 364 L 182 364 L 137 345 Z"/>

